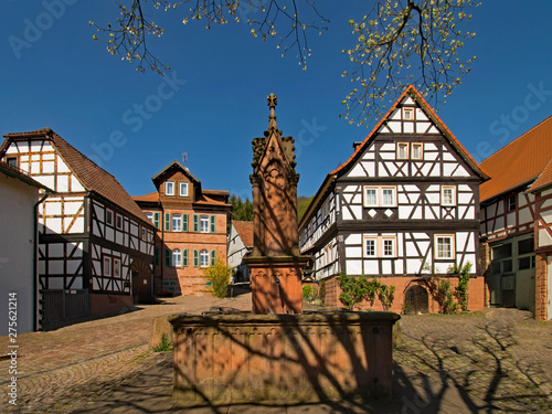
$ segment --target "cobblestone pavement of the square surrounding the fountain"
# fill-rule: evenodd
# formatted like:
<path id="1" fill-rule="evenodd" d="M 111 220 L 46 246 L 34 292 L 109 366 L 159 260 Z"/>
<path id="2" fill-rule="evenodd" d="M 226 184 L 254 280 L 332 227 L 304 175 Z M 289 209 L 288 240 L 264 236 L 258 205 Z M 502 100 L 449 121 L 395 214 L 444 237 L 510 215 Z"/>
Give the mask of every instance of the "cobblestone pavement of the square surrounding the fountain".
<path id="1" fill-rule="evenodd" d="M 8 405 L 9 360 L 0 361 L 1 412 L 179 412 L 170 400 L 171 353 L 148 348 L 155 317 L 200 312 L 213 306 L 251 309 L 251 294 L 235 299 L 171 298 L 163 305 L 21 335 L 18 406 Z M 528 312 L 489 309 L 469 315 L 403 316 L 403 344 L 394 350 L 391 403 L 300 407 L 236 406 L 194 413 L 510 413 L 551 412 L 552 325 Z M 0 355 L 8 338 L 0 337 Z M 454 393 L 461 408 L 445 406 Z M 155 406 L 155 410 L 151 407 Z M 7 407 L 4 410 L 4 407 Z M 181 411 L 191 412 L 191 411 Z"/>

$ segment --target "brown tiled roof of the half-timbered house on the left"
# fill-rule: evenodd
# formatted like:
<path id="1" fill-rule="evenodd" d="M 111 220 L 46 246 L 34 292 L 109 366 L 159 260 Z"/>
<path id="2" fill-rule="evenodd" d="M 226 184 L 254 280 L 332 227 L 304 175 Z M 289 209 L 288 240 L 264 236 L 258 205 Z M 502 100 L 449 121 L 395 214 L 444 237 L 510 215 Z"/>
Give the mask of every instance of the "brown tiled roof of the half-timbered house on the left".
<path id="1" fill-rule="evenodd" d="M 87 191 L 97 193 L 104 199 L 117 204 L 119 208 L 135 215 L 140 221 L 151 224 L 138 204 L 136 204 L 115 177 L 95 164 L 91 159 L 76 150 L 52 129 L 42 128 L 29 132 L 7 134 L 4 137 L 6 140 L 0 148 L 0 153 L 8 148 L 11 140 L 28 138 L 49 139 L 57 150 L 59 155 L 66 162 L 71 171 L 73 171 Z"/>

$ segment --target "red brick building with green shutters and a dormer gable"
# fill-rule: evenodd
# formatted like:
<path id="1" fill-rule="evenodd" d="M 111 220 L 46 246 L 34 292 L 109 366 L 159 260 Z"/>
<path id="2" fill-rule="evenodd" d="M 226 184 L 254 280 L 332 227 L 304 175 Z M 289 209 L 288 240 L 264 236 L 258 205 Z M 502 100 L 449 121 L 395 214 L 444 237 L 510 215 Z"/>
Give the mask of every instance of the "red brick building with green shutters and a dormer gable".
<path id="1" fill-rule="evenodd" d="M 226 263 L 229 192 L 203 190 L 188 168 L 171 162 L 151 178 L 157 191 L 134 197 L 157 227 L 155 290 L 161 295 L 204 295 L 202 268 Z"/>

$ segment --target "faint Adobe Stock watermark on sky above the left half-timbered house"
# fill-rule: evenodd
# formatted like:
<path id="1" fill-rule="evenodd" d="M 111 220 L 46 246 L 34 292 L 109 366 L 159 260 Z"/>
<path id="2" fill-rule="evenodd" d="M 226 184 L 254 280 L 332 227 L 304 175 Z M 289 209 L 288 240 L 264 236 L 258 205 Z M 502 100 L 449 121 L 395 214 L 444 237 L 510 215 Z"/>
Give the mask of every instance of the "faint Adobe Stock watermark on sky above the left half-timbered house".
<path id="1" fill-rule="evenodd" d="M 141 103 L 134 104 L 130 109 L 125 110 L 120 120 L 124 125 L 130 128 L 130 131 L 138 132 L 147 120 L 150 120 L 164 105 L 166 100 L 172 98 L 188 81 L 179 79 L 177 71 L 163 77 L 163 82 L 159 84 L 156 93 L 148 95 Z M 115 129 L 109 134 L 109 138 L 100 144 L 91 144 L 94 151 L 88 158 L 98 167 L 104 162 L 108 162 L 115 155 L 117 148 L 124 147 L 128 142 L 128 138 L 120 129 Z"/>

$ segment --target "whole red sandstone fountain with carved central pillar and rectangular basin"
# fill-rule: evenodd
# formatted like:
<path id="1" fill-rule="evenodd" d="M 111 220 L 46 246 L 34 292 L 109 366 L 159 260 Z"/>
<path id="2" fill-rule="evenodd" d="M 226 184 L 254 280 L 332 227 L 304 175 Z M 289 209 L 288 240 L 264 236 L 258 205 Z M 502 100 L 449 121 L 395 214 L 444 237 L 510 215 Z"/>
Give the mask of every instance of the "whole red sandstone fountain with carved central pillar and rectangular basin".
<path id="1" fill-rule="evenodd" d="M 294 139 L 276 125 L 253 140 L 252 312 L 169 317 L 173 397 L 185 406 L 391 396 L 392 312 L 302 312 Z"/>

